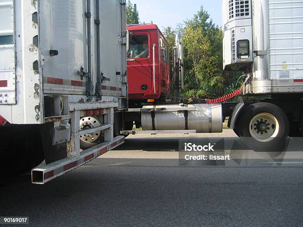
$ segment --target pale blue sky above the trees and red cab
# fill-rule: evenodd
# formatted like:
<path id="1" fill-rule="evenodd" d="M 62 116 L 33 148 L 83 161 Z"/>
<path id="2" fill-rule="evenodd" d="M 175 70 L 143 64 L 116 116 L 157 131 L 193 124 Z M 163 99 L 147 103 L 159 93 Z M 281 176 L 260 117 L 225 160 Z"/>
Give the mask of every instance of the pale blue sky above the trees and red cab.
<path id="1" fill-rule="evenodd" d="M 176 27 L 186 19 L 192 18 L 200 6 L 208 11 L 213 22 L 221 26 L 222 0 L 131 0 L 137 4 L 140 22 L 157 24 L 162 27 Z"/>

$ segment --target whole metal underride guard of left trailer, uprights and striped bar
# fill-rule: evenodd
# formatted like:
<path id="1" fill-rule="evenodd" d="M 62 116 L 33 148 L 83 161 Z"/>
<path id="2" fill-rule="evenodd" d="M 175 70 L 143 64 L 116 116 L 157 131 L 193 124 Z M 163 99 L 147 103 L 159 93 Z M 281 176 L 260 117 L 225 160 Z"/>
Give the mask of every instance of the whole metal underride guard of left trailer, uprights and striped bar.
<path id="1" fill-rule="evenodd" d="M 48 165 L 41 165 L 32 170 L 32 182 L 38 184 L 44 184 L 50 180 L 63 175 L 95 158 L 109 151 L 110 149 L 122 144 L 124 142 L 124 136 L 113 136 L 113 124 L 114 124 L 114 107 L 118 103 L 107 103 L 108 107 L 104 111 L 104 125 L 88 130 L 79 129 L 80 113 L 84 109 L 95 109 L 99 107 L 100 103 L 83 103 L 82 107 L 76 110 L 78 105 L 69 103 L 70 107 L 74 107 L 69 112 L 71 116 L 71 136 L 70 141 L 66 143 L 67 157 Z M 80 135 L 96 132 L 102 130 L 104 132 L 104 142 L 96 145 L 92 148 L 83 150 L 80 152 Z"/>

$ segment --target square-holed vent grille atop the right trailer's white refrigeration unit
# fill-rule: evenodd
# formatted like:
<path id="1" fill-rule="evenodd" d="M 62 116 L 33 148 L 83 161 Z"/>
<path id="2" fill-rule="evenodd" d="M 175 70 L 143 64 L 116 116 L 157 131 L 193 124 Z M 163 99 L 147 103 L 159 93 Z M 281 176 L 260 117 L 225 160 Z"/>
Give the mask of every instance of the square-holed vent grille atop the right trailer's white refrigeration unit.
<path id="1" fill-rule="evenodd" d="M 237 17 L 250 16 L 250 0 L 229 0 L 228 1 L 228 18 L 230 20 Z"/>

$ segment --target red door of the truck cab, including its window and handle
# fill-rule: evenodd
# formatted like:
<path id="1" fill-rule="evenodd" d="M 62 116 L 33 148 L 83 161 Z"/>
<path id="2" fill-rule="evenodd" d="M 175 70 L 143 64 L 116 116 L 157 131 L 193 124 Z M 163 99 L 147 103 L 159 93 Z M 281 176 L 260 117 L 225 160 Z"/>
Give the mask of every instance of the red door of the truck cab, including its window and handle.
<path id="1" fill-rule="evenodd" d="M 130 98 L 152 92 L 152 42 L 150 32 L 130 32 L 127 52 L 127 82 Z M 132 96 L 132 94 L 137 94 Z"/>

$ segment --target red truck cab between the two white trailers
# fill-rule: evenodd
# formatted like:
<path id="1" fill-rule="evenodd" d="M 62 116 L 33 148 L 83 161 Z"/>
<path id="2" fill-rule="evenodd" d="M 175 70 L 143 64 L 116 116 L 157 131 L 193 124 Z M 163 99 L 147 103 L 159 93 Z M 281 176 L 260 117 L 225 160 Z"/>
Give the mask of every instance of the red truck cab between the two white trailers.
<path id="1" fill-rule="evenodd" d="M 154 24 L 128 26 L 127 30 L 128 98 L 133 102 L 157 102 L 170 92 L 168 43 Z"/>

